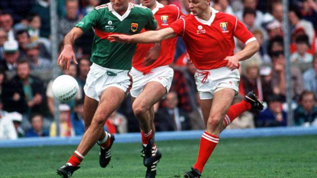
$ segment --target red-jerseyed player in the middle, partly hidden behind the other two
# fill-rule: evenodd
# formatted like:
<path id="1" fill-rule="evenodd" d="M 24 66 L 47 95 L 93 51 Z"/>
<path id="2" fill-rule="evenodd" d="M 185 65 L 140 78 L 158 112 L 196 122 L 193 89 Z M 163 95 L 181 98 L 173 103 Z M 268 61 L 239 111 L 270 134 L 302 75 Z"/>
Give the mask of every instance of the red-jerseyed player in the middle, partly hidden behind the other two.
<path id="1" fill-rule="evenodd" d="M 163 29 L 176 21 L 183 14 L 175 6 L 166 6 L 155 0 L 141 0 L 143 6 L 152 10 L 157 25 Z M 141 32 L 144 32 L 143 29 Z M 154 44 L 138 44 L 132 59 L 130 75 L 133 86 L 130 91 L 133 97 L 133 111 L 139 120 L 142 146 L 143 164 L 147 168 L 145 177 L 156 175 L 156 165 L 162 154 L 154 143 L 154 109 L 153 105 L 164 97 L 171 88 L 173 69 L 169 64 L 173 62 L 176 37 L 162 41 L 161 48 Z M 149 66 L 144 65 L 145 58 L 157 59 Z"/>

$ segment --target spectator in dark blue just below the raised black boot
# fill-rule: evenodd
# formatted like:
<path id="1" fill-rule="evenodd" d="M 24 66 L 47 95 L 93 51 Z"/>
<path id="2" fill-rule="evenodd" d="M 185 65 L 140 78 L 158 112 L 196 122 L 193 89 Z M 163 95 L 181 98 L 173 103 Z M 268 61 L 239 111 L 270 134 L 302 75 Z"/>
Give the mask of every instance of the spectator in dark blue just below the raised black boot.
<path id="1" fill-rule="evenodd" d="M 283 99 L 281 95 L 272 95 L 268 108 L 260 113 L 257 119 L 258 127 L 286 126 L 287 114 L 282 110 Z"/>

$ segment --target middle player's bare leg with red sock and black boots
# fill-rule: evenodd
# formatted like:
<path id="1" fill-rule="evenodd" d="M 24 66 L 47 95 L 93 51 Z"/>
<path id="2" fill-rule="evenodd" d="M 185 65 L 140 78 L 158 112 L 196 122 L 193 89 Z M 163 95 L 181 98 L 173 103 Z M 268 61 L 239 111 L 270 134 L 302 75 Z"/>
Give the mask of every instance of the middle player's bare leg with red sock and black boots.
<path id="1" fill-rule="evenodd" d="M 162 157 L 154 143 L 154 108 L 153 105 L 165 94 L 166 88 L 158 82 L 149 82 L 141 94 L 134 100 L 132 108 L 136 115 L 142 135 L 143 164 L 147 167 L 146 177 L 155 177 L 156 164 Z"/>

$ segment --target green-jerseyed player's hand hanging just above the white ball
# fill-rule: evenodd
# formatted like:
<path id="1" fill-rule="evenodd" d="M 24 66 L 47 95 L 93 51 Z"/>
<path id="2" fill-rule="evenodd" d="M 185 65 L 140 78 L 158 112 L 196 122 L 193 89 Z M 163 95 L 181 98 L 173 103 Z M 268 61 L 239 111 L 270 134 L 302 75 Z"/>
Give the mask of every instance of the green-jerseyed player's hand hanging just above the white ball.
<path id="1" fill-rule="evenodd" d="M 57 65 L 62 70 L 68 70 L 71 64 L 71 60 L 73 60 L 75 64 L 78 64 L 75 58 L 73 47 L 71 45 L 65 45 L 64 49 L 61 51 L 57 59 Z"/>

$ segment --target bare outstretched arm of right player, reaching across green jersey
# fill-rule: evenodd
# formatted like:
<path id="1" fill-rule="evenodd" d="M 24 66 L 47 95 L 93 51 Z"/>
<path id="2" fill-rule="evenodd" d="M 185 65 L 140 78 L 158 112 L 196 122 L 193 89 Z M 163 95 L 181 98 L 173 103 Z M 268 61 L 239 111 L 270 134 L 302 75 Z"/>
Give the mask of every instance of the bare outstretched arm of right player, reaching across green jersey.
<path id="1" fill-rule="evenodd" d="M 110 42 L 119 43 L 157 43 L 173 37 L 175 37 L 174 30 L 168 27 L 156 31 L 145 31 L 134 35 L 111 34 L 108 39 Z"/>

